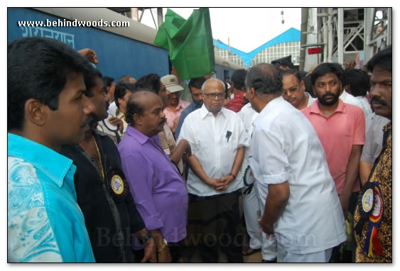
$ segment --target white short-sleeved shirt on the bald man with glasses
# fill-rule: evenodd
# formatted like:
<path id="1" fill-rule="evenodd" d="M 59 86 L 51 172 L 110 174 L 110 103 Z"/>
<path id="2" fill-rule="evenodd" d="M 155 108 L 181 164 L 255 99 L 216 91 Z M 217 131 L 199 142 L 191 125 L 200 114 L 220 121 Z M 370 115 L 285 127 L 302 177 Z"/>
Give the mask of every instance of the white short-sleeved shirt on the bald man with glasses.
<path id="1" fill-rule="evenodd" d="M 183 121 L 177 144 L 185 139 L 190 143 L 192 154 L 198 158 L 205 174 L 220 179 L 232 170 L 237 148 L 248 146 L 249 139 L 240 117 L 229 109 L 222 108 L 215 117 L 205 105 L 190 113 Z M 190 169 L 188 192 L 200 197 L 234 192 L 243 187 L 242 175 L 223 191 L 217 191 L 195 175 Z"/>

